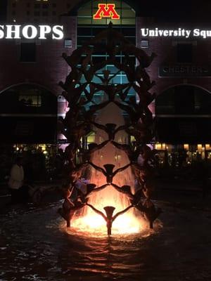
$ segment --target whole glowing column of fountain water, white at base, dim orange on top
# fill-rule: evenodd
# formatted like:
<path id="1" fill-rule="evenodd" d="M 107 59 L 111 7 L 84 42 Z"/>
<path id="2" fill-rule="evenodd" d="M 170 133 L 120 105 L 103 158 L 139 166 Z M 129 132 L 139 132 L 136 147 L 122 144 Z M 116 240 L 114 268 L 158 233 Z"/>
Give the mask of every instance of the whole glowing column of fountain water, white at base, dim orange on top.
<path id="1" fill-rule="evenodd" d="M 108 115 L 108 112 L 115 113 L 114 115 Z M 101 110 L 98 119 L 101 120 L 102 124 L 112 123 L 114 119 L 117 126 L 124 124 L 121 110 L 115 104 L 110 104 L 104 110 Z M 117 136 L 115 136 L 115 141 L 120 138 L 124 139 L 126 135 L 124 131 L 118 132 Z M 101 139 L 103 140 L 106 137 L 107 136 L 105 136 L 101 130 L 96 131 L 96 143 L 98 143 L 98 140 L 101 141 Z M 121 157 L 115 157 L 117 155 Z M 115 165 L 115 169 L 129 163 L 127 155 L 121 151 L 117 152 L 112 143 L 108 143 L 101 150 L 94 152 L 91 161 L 98 166 L 103 166 L 108 163 L 113 164 Z M 106 178 L 101 172 L 93 168 L 90 171 L 90 175 L 89 183 L 95 183 L 97 187 L 105 185 Z M 130 185 L 131 192 L 134 193 L 135 180 L 131 167 L 117 173 L 113 178 L 113 183 L 118 186 Z M 103 209 L 104 207 L 115 207 L 113 216 L 126 209 L 130 204 L 127 195 L 117 191 L 112 185 L 108 185 L 98 192 L 91 193 L 88 202 L 96 209 L 103 212 L 103 214 L 106 214 Z M 90 207 L 84 207 L 82 211 L 76 212 L 75 216 L 72 218 L 71 225 L 77 232 L 83 232 L 85 235 L 89 235 L 89 233 L 91 233 L 91 235 L 107 235 L 106 221 Z M 139 233 L 146 228 L 145 220 L 141 212 L 137 211 L 135 208 L 131 208 L 124 214 L 117 216 L 115 221 L 113 221 L 112 234 Z"/>

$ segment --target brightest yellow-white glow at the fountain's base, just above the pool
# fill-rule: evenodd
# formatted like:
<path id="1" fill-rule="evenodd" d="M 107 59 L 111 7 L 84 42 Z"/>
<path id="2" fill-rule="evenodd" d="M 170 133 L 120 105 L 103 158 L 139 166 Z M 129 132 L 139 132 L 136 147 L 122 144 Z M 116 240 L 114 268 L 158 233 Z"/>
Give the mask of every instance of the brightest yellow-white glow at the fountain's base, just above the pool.
<path id="1" fill-rule="evenodd" d="M 106 206 L 115 207 L 114 215 L 129 206 L 129 202 L 125 200 L 126 196 L 120 195 L 119 192 L 111 186 L 99 193 L 100 195 L 98 194 L 98 196 L 100 196 L 101 200 L 99 200 L 96 195 L 92 195 L 90 197 L 90 202 L 96 209 L 103 211 L 104 214 L 106 214 L 106 212 L 103 207 Z M 89 207 L 84 208 L 84 214 L 82 214 L 82 216 L 75 215 L 72 221 L 72 227 L 86 233 L 107 233 L 106 221 Z M 141 214 L 135 214 L 135 209 L 132 208 L 115 219 L 112 233 L 139 233 L 143 228 L 146 228 L 143 217 Z"/>

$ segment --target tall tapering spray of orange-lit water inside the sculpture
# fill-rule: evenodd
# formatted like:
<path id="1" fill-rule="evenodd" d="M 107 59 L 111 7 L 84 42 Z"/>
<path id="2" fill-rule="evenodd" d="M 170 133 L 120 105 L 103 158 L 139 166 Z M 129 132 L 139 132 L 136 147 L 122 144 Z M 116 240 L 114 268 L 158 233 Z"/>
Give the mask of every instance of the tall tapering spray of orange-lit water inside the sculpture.
<path id="1" fill-rule="evenodd" d="M 107 123 L 115 123 L 117 128 L 118 126 L 124 125 L 124 118 L 122 117 L 122 112 L 119 107 L 117 107 L 114 103 L 110 103 L 99 112 L 96 122 L 103 125 L 106 125 Z M 124 130 L 118 131 L 115 135 L 115 141 L 117 143 L 127 143 L 127 138 L 127 133 Z M 96 129 L 96 143 L 101 143 L 107 139 L 107 133 L 101 129 Z M 112 143 L 108 143 L 101 150 L 94 152 L 94 155 L 91 157 L 91 161 L 102 168 L 104 164 L 113 164 L 115 165 L 114 171 L 129 164 L 129 159 L 126 153 L 117 149 Z M 95 183 L 97 187 L 100 187 L 106 183 L 106 176 L 104 176 L 101 171 L 96 171 L 96 169 L 91 168 L 90 183 Z M 132 192 L 134 192 L 135 183 L 131 167 L 117 173 L 113 178 L 113 183 L 120 187 L 122 185 L 130 185 Z M 114 214 L 116 214 L 118 211 L 122 211 L 129 206 L 129 200 L 126 195 L 118 192 L 115 188 L 113 188 L 113 186 L 109 185 L 105 189 L 93 193 L 89 197 L 89 204 L 92 204 L 98 210 L 103 212 L 103 207 L 113 206 L 115 207 Z M 125 233 L 125 231 L 129 230 L 139 232 L 143 225 L 143 220 L 138 213 L 139 212 L 135 212 L 133 208 L 129 209 L 127 213 L 118 216 L 113 223 L 113 232 Z M 80 226 L 81 228 L 95 227 L 102 229 L 102 226 L 105 225 L 103 218 L 99 217 L 99 215 L 89 207 L 83 209 L 83 216 L 84 219 L 74 221 L 75 226 Z M 101 221 L 99 221 L 100 219 Z M 96 224 L 96 222 L 98 223 Z"/>

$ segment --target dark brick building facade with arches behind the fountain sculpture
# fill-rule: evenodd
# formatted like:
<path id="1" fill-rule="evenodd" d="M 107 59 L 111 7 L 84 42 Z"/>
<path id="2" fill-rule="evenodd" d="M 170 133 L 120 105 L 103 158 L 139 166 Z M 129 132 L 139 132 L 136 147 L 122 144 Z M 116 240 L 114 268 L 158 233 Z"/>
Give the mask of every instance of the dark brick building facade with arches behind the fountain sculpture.
<path id="1" fill-rule="evenodd" d="M 60 141 L 63 136 L 57 134 L 56 119 L 64 117 L 71 105 L 60 96 L 62 89 L 58 82 L 64 81 L 70 72 L 61 55 L 70 55 L 77 46 L 106 28 L 111 20 L 113 28 L 120 30 L 132 43 L 149 55 L 157 55 L 147 71 L 155 81 L 152 91 L 157 98 L 151 110 L 156 119 L 154 146 L 160 151 L 159 161 L 171 162 L 168 155 L 178 150 L 187 152 L 186 162 L 197 157 L 211 157 L 211 37 L 151 37 L 143 33 L 143 28 L 209 30 L 209 26 L 201 21 L 165 22 L 143 16 L 142 7 L 135 2 L 8 1 L 4 24 L 63 25 L 64 38 L 1 39 L 0 125 L 4 131 L 1 143 L 11 143 L 18 152 L 27 151 L 27 146 L 36 143 L 36 148 L 46 155 L 53 145 L 63 143 Z M 111 18 L 111 13 L 94 19 L 98 4 L 115 4 L 120 18 Z M 98 54 L 93 59 L 98 61 L 101 57 L 102 54 Z M 112 72 L 113 65 L 108 65 L 108 69 Z M 124 74 L 117 76 L 116 83 L 126 82 Z M 94 141 L 94 134 L 88 136 L 87 143 L 91 141 Z"/>

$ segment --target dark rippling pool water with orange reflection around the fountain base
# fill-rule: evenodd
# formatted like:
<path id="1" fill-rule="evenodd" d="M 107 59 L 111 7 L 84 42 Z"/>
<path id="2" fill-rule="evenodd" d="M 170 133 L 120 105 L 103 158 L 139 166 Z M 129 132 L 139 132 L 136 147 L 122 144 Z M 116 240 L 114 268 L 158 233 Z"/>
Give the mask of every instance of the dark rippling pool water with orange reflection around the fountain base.
<path id="1" fill-rule="evenodd" d="M 188 215 L 188 222 L 184 212 L 175 216 L 169 209 L 162 218 L 165 227 L 157 223 L 154 232 L 90 237 L 67 231 L 56 214 L 58 206 L 60 202 L 40 209 L 16 208 L 0 216 L 1 281 L 211 280 L 210 251 L 203 244 L 209 245 L 210 236 L 201 231 L 199 237 L 191 235 L 195 214 Z M 207 220 L 200 216 L 201 227 Z M 184 223 L 183 231 L 179 223 Z"/>

